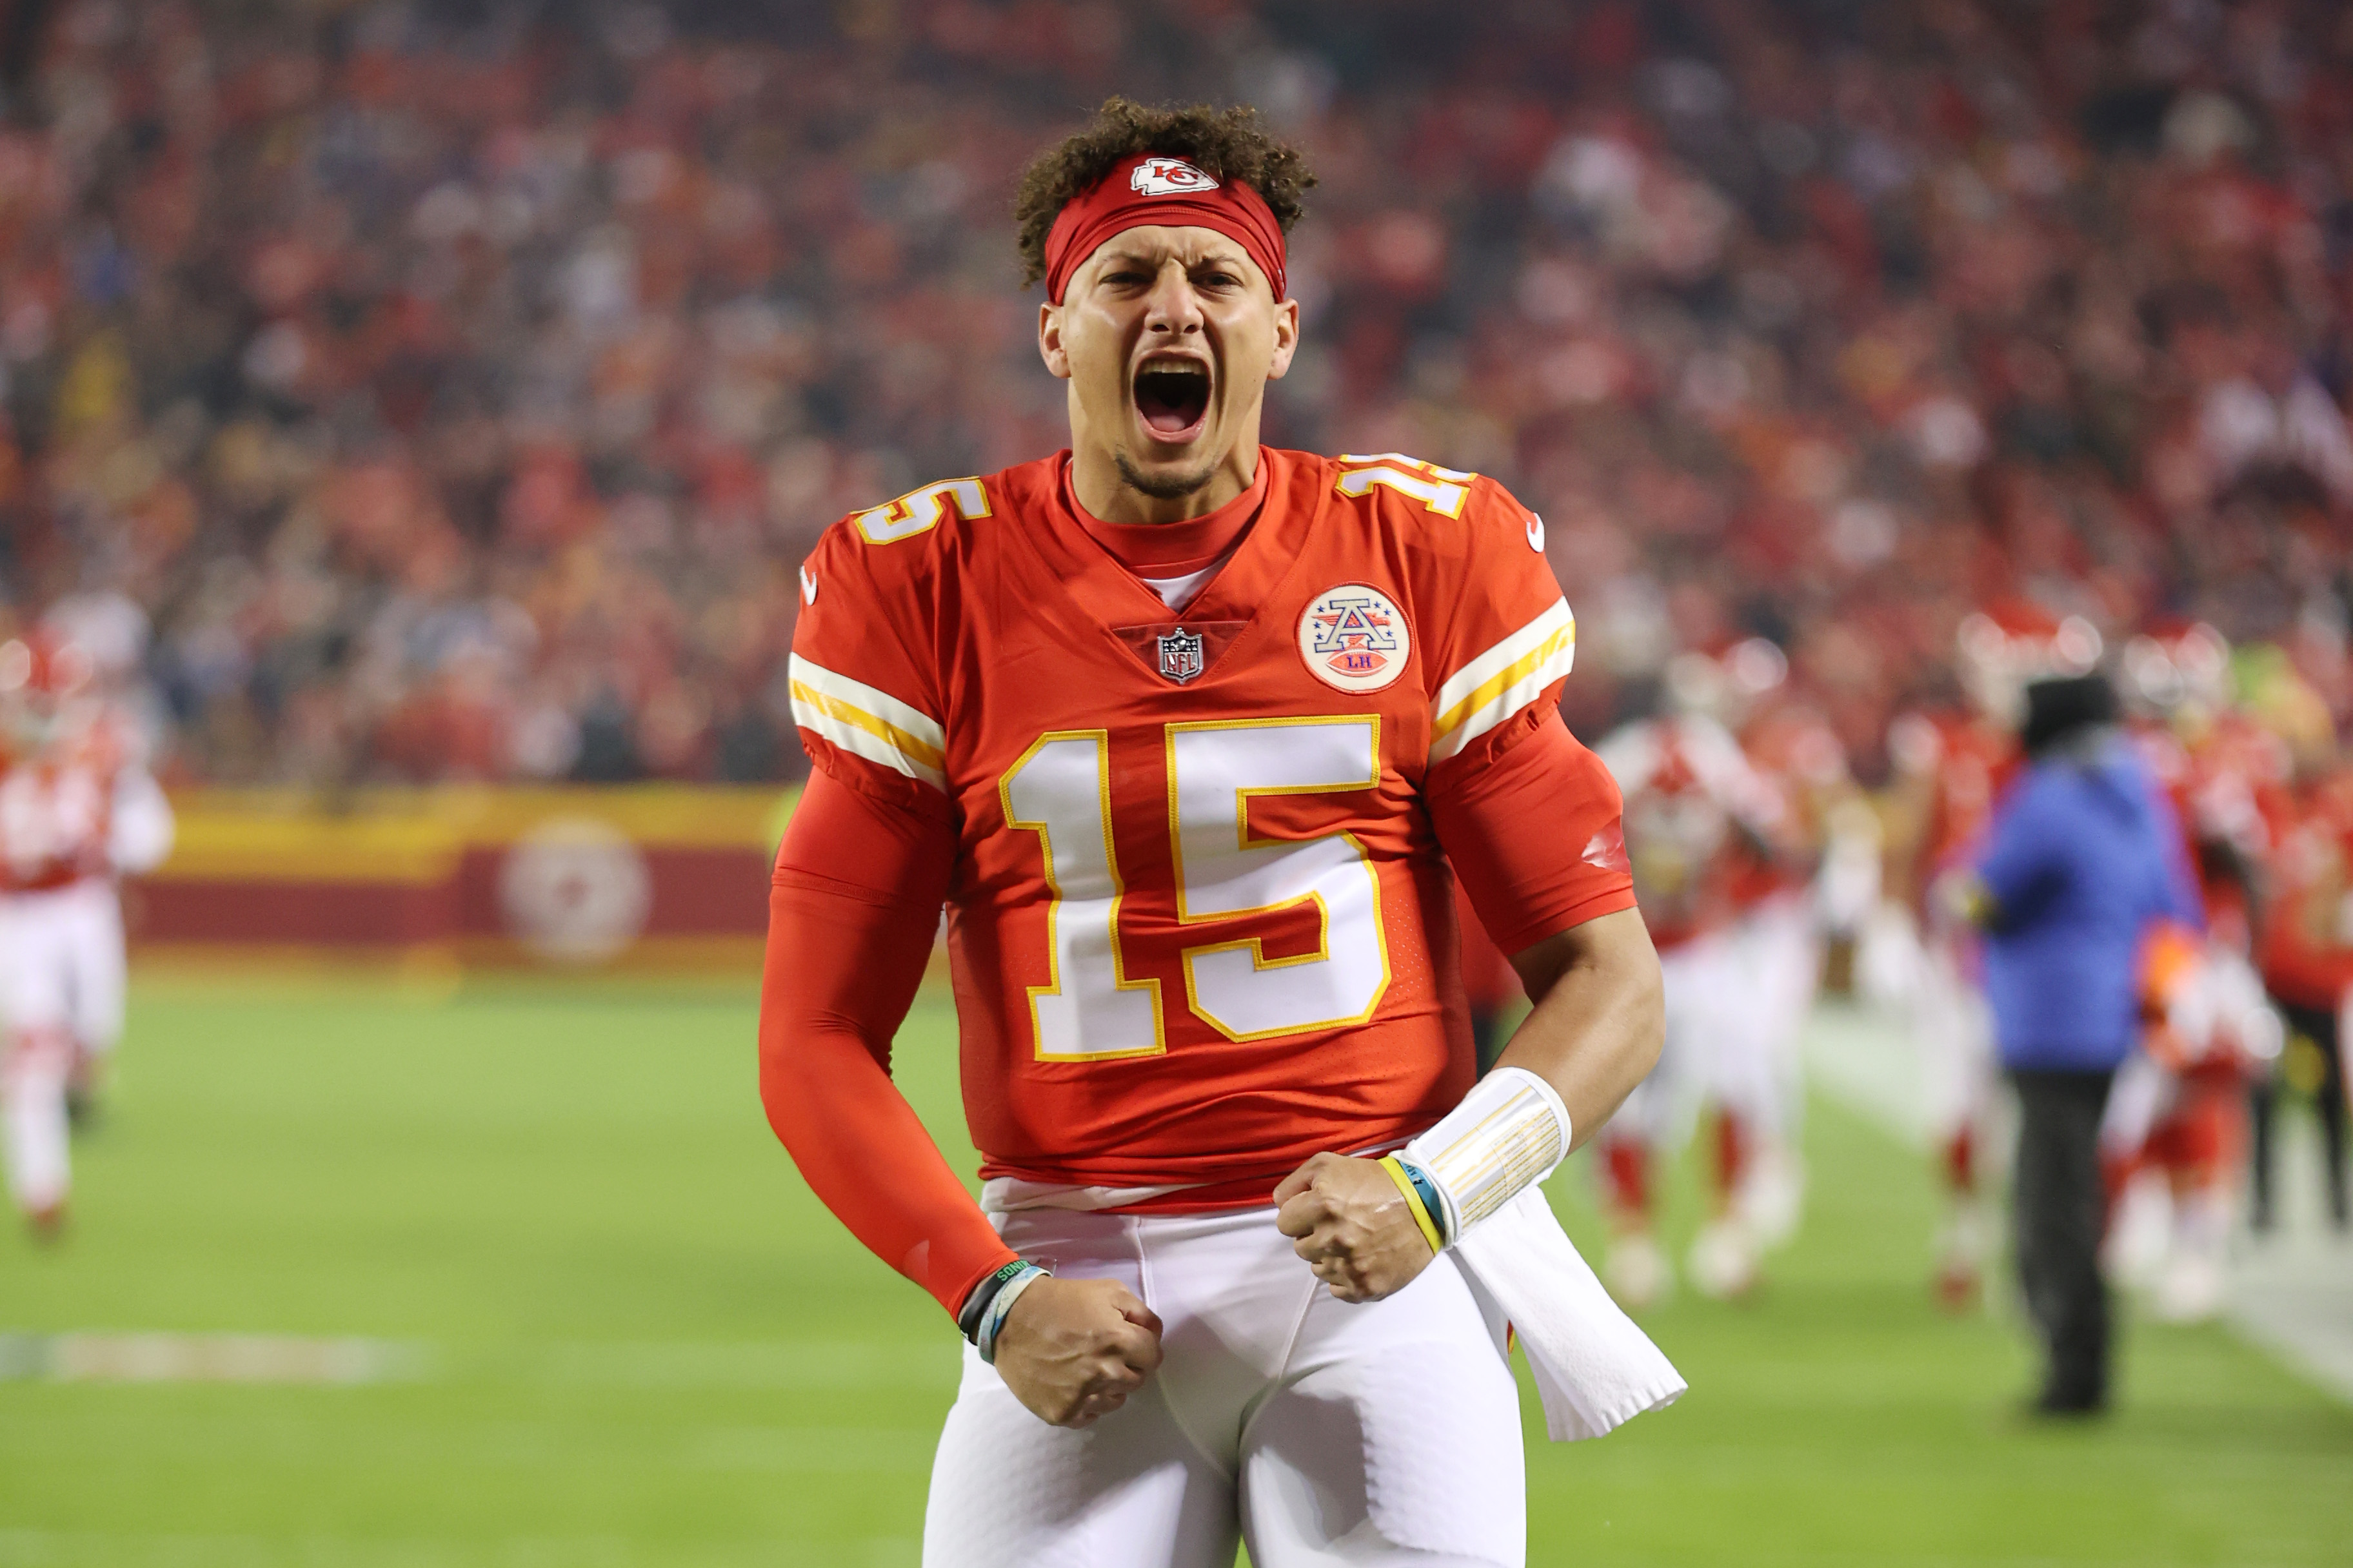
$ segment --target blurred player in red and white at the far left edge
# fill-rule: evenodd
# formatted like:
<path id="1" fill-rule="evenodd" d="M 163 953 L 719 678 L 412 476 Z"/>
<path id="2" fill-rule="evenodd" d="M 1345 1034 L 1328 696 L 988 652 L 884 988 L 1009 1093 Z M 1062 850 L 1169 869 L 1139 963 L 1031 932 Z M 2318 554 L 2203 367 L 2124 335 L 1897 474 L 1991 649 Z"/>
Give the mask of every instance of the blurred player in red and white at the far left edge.
<path id="1" fill-rule="evenodd" d="M 115 877 L 172 849 L 172 806 L 104 701 L 96 661 L 38 630 L 0 644 L 0 1016 L 9 1192 L 56 1234 L 68 1095 L 92 1093 L 122 1032 Z"/>

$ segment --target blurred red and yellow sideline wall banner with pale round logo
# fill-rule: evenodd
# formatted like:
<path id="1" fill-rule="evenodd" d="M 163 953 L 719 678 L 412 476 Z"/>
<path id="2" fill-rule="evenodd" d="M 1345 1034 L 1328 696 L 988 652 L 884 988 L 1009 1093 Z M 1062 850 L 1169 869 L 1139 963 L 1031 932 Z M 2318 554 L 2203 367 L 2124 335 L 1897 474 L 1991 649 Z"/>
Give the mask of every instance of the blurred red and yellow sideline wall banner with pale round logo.
<path id="1" fill-rule="evenodd" d="M 174 795 L 134 943 L 464 964 L 758 966 L 776 788 L 367 788 Z"/>

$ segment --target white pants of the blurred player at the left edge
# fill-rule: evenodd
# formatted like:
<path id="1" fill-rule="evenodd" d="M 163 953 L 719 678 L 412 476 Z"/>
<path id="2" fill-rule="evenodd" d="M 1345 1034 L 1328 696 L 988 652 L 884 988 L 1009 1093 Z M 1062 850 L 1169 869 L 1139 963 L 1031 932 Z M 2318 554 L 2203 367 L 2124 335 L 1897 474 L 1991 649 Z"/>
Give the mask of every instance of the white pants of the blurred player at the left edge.
<path id="1" fill-rule="evenodd" d="M 73 1056 L 111 1051 L 122 1034 L 122 903 L 111 882 L 0 896 L 0 1023 L 9 1192 L 19 1208 L 49 1208 L 71 1182 Z"/>

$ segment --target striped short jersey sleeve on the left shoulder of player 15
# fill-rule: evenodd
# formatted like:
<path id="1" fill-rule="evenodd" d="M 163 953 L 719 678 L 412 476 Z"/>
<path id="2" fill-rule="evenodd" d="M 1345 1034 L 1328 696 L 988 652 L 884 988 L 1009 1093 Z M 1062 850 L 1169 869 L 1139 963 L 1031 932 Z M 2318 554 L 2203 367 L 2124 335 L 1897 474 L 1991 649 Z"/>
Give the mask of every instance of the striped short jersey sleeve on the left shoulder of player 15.
<path id="1" fill-rule="evenodd" d="M 927 816 L 948 806 L 948 731 L 936 665 L 922 656 L 925 564 L 941 508 L 967 505 L 958 484 L 979 494 L 976 480 L 934 484 L 826 529 L 800 567 L 793 628 L 793 722 L 809 762 Z"/>

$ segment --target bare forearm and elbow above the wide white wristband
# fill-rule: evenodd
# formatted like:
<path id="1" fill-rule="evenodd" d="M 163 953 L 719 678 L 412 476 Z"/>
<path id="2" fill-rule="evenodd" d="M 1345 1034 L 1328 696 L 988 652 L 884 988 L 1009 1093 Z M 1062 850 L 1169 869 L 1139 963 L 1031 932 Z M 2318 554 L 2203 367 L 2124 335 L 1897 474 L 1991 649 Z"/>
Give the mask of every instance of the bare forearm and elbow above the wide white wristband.
<path id="1" fill-rule="evenodd" d="M 1659 954 L 1640 910 L 1619 910 L 1548 936 L 1511 966 L 1534 1009 L 1504 1046 L 1499 1067 L 1525 1067 L 1560 1095 L 1572 1147 L 1591 1138 L 1633 1093 L 1666 1041 Z"/>

